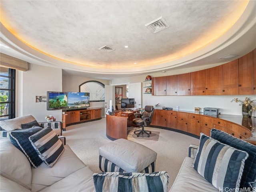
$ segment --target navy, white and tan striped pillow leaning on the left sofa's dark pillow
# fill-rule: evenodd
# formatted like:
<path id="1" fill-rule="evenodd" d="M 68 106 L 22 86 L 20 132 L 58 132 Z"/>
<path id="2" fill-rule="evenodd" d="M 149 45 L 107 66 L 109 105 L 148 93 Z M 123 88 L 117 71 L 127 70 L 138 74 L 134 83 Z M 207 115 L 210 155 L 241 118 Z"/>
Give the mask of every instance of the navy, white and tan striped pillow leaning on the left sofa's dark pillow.
<path id="1" fill-rule="evenodd" d="M 46 165 L 52 167 L 64 151 L 64 146 L 58 136 L 50 127 L 29 137 L 31 144 L 36 149 L 39 157 Z"/>

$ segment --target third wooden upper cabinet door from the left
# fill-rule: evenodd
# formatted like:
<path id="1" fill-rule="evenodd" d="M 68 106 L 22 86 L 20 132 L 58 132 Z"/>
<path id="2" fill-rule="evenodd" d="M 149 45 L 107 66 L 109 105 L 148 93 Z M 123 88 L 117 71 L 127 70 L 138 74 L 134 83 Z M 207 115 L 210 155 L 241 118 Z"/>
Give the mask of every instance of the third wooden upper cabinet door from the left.
<path id="1" fill-rule="evenodd" d="M 190 95 L 190 73 L 177 75 L 177 95 Z"/>

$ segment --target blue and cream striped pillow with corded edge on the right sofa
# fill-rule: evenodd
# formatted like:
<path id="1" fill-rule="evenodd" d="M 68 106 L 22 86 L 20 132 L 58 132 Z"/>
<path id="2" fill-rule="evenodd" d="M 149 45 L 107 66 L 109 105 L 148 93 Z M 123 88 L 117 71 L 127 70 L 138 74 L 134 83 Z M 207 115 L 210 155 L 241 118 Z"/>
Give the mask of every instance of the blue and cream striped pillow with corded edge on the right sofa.
<path id="1" fill-rule="evenodd" d="M 247 158 L 247 152 L 201 133 L 193 167 L 218 190 L 238 190 Z"/>

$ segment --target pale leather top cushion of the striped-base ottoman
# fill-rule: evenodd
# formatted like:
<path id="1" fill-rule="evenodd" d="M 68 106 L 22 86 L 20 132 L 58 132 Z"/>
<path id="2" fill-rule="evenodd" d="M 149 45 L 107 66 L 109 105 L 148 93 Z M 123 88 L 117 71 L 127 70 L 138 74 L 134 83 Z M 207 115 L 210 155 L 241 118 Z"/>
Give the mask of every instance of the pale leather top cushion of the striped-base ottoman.
<path id="1" fill-rule="evenodd" d="M 126 139 L 114 140 L 99 149 L 99 154 L 126 172 L 140 172 L 156 160 L 157 153 Z"/>

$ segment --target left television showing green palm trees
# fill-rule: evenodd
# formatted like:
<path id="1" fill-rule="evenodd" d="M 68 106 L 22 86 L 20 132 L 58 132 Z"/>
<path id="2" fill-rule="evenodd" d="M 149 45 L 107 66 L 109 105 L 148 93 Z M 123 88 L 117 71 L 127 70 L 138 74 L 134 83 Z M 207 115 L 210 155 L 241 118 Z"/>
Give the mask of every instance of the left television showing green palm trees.
<path id="1" fill-rule="evenodd" d="M 48 91 L 47 97 L 47 110 L 58 110 L 68 107 L 68 93 Z"/>

